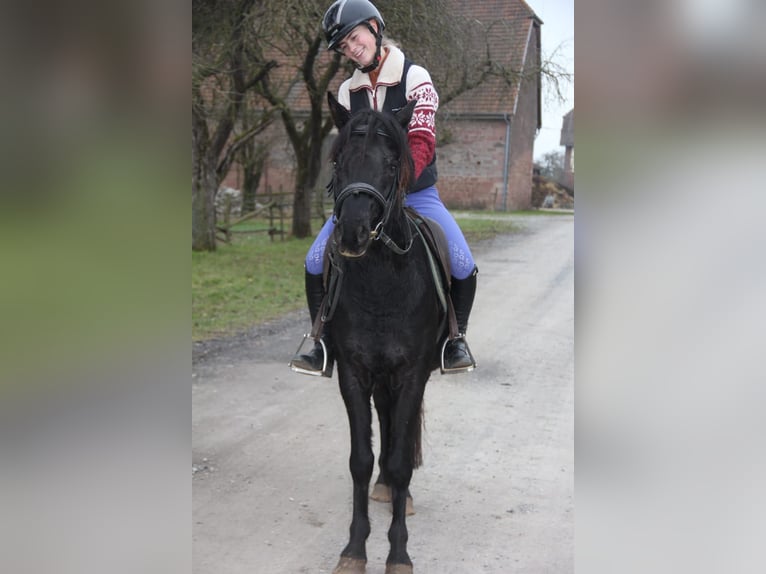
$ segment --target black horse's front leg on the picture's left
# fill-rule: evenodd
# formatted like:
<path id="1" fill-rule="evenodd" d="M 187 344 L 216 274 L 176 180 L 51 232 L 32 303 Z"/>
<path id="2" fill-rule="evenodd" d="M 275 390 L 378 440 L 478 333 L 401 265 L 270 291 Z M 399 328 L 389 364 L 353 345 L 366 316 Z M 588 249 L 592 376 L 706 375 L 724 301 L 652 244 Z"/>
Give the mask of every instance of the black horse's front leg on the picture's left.
<path id="1" fill-rule="evenodd" d="M 340 365 L 339 365 L 340 367 Z M 345 375 L 345 376 L 344 376 Z M 372 453 L 372 410 L 370 393 L 363 390 L 361 381 L 339 369 L 340 390 L 348 413 L 351 431 L 351 454 L 349 469 L 354 480 L 353 516 L 349 540 L 341 552 L 341 559 L 334 574 L 357 574 L 364 572 L 367 561 L 366 543 L 370 535 L 370 518 L 367 496 L 374 465 Z M 368 387 L 369 388 L 369 387 Z"/>

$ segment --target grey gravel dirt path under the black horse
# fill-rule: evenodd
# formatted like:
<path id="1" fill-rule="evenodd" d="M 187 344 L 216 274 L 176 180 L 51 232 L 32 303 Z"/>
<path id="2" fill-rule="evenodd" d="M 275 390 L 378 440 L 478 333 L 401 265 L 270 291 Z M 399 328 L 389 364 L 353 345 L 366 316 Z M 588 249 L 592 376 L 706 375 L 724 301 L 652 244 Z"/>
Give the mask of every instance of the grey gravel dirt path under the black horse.
<path id="1" fill-rule="evenodd" d="M 479 368 L 426 389 L 408 519 L 417 574 L 574 569 L 574 218 L 519 221 L 523 233 L 476 249 Z M 287 367 L 307 327 L 301 312 L 194 349 L 197 574 L 329 573 L 346 543 L 337 380 Z M 371 502 L 370 517 L 367 572 L 383 574 L 390 511 Z"/>

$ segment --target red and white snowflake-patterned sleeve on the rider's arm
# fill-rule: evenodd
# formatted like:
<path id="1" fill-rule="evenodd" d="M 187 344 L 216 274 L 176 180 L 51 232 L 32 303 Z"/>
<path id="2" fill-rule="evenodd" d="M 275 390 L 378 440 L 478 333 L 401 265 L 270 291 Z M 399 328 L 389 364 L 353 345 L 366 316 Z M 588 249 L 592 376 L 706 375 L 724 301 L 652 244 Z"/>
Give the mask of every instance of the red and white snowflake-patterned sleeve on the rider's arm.
<path id="1" fill-rule="evenodd" d="M 413 81 L 415 80 L 415 81 Z M 417 100 L 412 112 L 407 139 L 415 162 L 415 179 L 431 163 L 436 151 L 436 110 L 439 108 L 439 95 L 436 93 L 431 78 L 425 69 L 412 66 L 407 77 L 408 100 Z"/>

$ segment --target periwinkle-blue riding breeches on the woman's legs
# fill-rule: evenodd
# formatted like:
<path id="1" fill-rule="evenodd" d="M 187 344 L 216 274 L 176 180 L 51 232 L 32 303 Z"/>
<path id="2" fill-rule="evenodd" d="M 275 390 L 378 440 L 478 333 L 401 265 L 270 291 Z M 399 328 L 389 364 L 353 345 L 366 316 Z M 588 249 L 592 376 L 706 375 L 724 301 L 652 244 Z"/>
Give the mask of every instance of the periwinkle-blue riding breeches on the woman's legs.
<path id="1" fill-rule="evenodd" d="M 404 205 L 413 208 L 424 217 L 430 217 L 442 226 L 444 234 L 447 236 L 447 244 L 449 245 L 452 276 L 455 279 L 465 279 L 468 277 L 473 272 L 475 266 L 473 255 L 471 255 L 471 248 L 468 247 L 468 243 L 466 243 L 463 232 L 460 230 L 460 226 L 458 226 L 455 218 L 444 207 L 436 187 L 426 187 L 410 193 L 405 198 Z M 324 251 L 334 227 L 335 224 L 332 218 L 328 219 L 306 255 L 306 271 L 312 275 L 322 273 Z"/>

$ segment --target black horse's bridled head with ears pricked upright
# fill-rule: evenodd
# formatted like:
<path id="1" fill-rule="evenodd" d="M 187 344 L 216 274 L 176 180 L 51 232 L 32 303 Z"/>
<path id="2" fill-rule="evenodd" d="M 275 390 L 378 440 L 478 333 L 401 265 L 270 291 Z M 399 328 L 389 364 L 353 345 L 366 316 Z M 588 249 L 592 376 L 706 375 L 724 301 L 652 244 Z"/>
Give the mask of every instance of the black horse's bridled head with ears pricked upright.
<path id="1" fill-rule="evenodd" d="M 361 257 L 399 215 L 412 176 L 407 125 L 415 101 L 395 115 L 363 110 L 353 116 L 327 94 L 339 134 L 332 150 L 334 240 L 344 257 Z"/>

